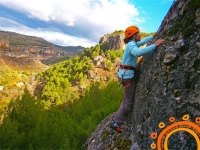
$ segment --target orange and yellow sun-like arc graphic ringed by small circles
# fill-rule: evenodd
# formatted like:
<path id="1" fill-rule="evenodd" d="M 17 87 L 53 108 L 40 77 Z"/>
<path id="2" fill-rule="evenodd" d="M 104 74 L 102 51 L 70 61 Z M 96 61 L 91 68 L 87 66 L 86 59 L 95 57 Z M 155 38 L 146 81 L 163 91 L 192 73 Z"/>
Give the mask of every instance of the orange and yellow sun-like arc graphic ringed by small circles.
<path id="1" fill-rule="evenodd" d="M 168 150 L 168 139 L 169 137 L 178 131 L 186 131 L 188 133 L 190 133 L 196 140 L 197 143 L 197 150 L 200 150 L 200 126 L 198 126 L 197 124 L 200 124 L 200 117 L 196 117 L 195 119 L 195 123 L 188 121 L 190 118 L 190 116 L 188 114 L 184 115 L 182 117 L 183 121 L 179 121 L 179 122 L 174 122 L 176 119 L 174 117 L 170 117 L 169 121 L 170 122 L 174 122 L 173 124 L 165 127 L 165 123 L 164 122 L 160 122 L 159 123 L 159 128 L 164 128 L 161 133 L 159 135 L 157 135 L 156 132 L 152 132 L 151 133 L 151 138 L 152 139 L 156 139 L 157 138 L 157 150 Z M 155 137 L 156 135 L 156 137 Z M 158 136 L 158 137 L 157 137 Z M 154 144 L 154 143 L 152 143 Z M 151 148 L 152 148 L 152 144 L 151 144 Z M 155 149 L 155 148 L 152 148 Z"/>

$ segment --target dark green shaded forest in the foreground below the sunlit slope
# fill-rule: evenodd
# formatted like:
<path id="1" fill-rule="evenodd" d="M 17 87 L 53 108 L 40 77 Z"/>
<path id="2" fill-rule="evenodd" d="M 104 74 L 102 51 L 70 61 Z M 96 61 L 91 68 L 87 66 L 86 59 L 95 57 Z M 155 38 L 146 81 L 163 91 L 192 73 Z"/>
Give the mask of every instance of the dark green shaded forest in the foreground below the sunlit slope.
<path id="1" fill-rule="evenodd" d="M 80 149 L 99 122 L 118 109 L 123 97 L 118 82 L 102 86 L 95 83 L 73 104 L 48 110 L 25 91 L 10 105 L 0 125 L 0 149 Z"/>

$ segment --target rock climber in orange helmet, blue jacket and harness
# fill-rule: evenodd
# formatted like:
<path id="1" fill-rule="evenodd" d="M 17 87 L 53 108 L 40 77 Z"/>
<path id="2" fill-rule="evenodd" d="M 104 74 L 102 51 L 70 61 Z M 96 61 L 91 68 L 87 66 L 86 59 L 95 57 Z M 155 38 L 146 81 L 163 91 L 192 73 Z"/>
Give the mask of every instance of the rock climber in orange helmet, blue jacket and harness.
<path id="1" fill-rule="evenodd" d="M 124 98 L 120 108 L 115 114 L 114 122 L 112 123 L 113 129 L 121 133 L 121 125 L 128 117 L 129 112 L 133 108 L 134 104 L 134 76 L 136 73 L 137 59 L 153 50 L 156 47 L 163 44 L 164 40 L 159 39 L 154 44 L 151 44 L 145 48 L 139 48 L 146 44 L 155 37 L 156 34 L 143 38 L 141 40 L 140 30 L 136 26 L 129 26 L 125 30 L 124 43 L 126 48 L 122 56 L 122 61 L 118 69 L 118 79 L 124 88 Z"/>

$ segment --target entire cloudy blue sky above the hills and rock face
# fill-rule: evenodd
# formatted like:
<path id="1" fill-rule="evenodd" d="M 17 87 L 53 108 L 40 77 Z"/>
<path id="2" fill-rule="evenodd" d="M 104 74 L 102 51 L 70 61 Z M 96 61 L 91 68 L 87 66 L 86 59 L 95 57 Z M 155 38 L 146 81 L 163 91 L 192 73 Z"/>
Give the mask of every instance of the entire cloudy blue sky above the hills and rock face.
<path id="1" fill-rule="evenodd" d="M 155 32 L 174 0 L 0 0 L 0 30 L 62 46 L 95 46 L 136 25 Z"/>

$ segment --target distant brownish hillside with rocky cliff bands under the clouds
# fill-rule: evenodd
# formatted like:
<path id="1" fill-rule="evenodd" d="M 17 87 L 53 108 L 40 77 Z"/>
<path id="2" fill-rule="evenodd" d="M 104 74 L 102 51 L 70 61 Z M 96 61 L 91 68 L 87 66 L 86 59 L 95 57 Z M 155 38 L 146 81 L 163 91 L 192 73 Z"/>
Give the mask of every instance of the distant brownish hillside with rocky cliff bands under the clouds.
<path id="1" fill-rule="evenodd" d="M 0 31 L 0 55 L 2 59 L 5 58 L 4 56 L 9 60 L 16 60 L 15 58 L 17 58 L 21 61 L 21 58 L 24 58 L 23 60 L 28 59 L 30 62 L 51 65 L 69 57 L 74 57 L 84 49 L 81 46 L 58 46 L 42 38 Z M 4 59 L 3 61 L 9 65 L 10 62 L 7 60 Z M 26 63 L 20 63 L 20 66 L 24 67 L 21 64 Z"/>

